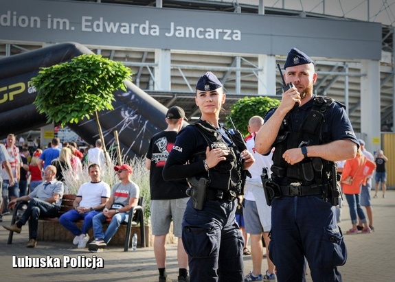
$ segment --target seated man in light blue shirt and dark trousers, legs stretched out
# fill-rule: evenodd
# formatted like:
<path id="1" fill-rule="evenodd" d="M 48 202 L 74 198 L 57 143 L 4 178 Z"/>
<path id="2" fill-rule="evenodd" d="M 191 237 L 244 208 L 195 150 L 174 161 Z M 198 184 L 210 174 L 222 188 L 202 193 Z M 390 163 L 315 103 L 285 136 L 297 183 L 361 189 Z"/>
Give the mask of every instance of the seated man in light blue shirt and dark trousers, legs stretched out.
<path id="1" fill-rule="evenodd" d="M 29 220 L 29 242 L 27 248 L 37 245 L 38 218 L 56 218 L 60 210 L 64 187 L 63 182 L 56 180 L 56 167 L 48 165 L 44 170 L 44 182 L 29 195 L 11 200 L 7 207 L 14 207 L 16 202 L 29 201 L 21 218 L 11 226 L 3 227 L 9 231 L 21 233 L 22 226 Z"/>

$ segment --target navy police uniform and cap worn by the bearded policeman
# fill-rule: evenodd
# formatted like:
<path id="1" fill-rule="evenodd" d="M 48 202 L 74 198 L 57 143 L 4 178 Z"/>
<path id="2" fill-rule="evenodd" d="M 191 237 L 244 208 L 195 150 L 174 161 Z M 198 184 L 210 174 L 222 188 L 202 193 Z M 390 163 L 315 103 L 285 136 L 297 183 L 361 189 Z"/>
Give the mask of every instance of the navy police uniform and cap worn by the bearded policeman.
<path id="1" fill-rule="evenodd" d="M 303 52 L 293 48 L 286 60 L 285 68 L 298 64 L 313 62 Z M 312 167 L 324 163 L 321 172 L 313 170 L 311 177 L 306 177 L 303 165 L 290 165 L 282 159 L 282 154 L 290 148 L 301 147 L 300 140 L 291 141 L 300 133 L 304 122 L 313 110 L 314 100 L 303 106 L 293 108 L 284 118 L 282 128 L 285 131 L 286 148 L 282 142 L 275 142 L 277 158 L 273 156 L 272 181 L 280 187 L 282 196 L 273 198 L 271 202 L 271 242 L 269 255 L 277 268 L 278 281 L 302 281 L 304 275 L 304 257 L 308 261 L 311 276 L 314 281 L 341 281 L 341 274 L 337 266 L 346 263 L 347 251 L 343 235 L 335 218 L 335 207 L 330 198 L 330 180 L 327 175 L 328 161 L 317 158 L 305 158 Z M 326 101 L 328 102 L 326 98 Z M 264 117 L 267 121 L 274 110 L 269 110 Z M 319 130 L 312 133 L 317 136 L 318 144 L 331 141 L 350 139 L 358 144 L 343 105 L 337 102 L 328 102 L 324 111 L 324 121 L 319 123 Z M 318 134 L 318 135 L 317 135 Z M 320 135 L 319 135 L 320 134 Z M 303 139 L 303 137 L 302 137 Z M 276 140 L 277 141 L 277 140 Z M 292 144 L 292 145 L 290 145 Z M 317 143 L 309 144 L 317 145 Z M 282 159 L 282 160 L 281 160 Z M 317 162 L 316 162 L 317 161 Z M 319 169 L 318 169 L 319 170 Z M 317 174 L 319 176 L 317 177 Z M 309 178 L 306 180 L 306 178 Z M 294 189 L 295 188 L 295 189 Z"/>

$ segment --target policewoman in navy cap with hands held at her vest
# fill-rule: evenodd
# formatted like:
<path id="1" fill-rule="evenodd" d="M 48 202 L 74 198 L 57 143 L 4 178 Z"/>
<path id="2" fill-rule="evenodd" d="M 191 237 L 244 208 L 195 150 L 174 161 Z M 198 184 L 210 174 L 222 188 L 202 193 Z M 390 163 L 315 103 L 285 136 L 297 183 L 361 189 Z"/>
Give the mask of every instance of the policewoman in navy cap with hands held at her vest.
<path id="1" fill-rule="evenodd" d="M 196 84 L 201 119 L 179 132 L 163 169 L 165 180 L 188 179 L 183 245 L 190 281 L 242 281 L 244 239 L 235 221 L 242 176 L 253 163 L 236 130 L 219 124 L 223 85 L 210 71 Z M 240 136 L 238 136 L 240 138 Z"/>

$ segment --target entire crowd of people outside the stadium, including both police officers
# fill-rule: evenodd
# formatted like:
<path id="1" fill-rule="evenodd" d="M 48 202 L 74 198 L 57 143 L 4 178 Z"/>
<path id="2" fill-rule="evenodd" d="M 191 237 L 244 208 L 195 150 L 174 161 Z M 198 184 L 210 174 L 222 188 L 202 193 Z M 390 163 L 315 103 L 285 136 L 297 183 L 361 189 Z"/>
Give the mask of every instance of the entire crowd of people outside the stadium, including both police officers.
<path id="1" fill-rule="evenodd" d="M 307 268 L 313 281 L 342 281 L 337 267 L 346 263 L 347 250 L 337 223 L 343 196 L 352 224 L 346 234 L 374 231 L 372 178 L 374 198 L 380 185 L 385 198 L 388 158 L 382 150 L 373 155 L 365 149 L 341 103 L 313 94 L 317 73 L 304 52 L 289 51 L 284 81 L 279 106 L 264 117 L 251 117 L 247 138 L 221 125 L 226 93 L 210 71 L 196 83 L 198 121 L 183 127 L 184 110 L 168 109 L 166 130 L 150 139 L 146 152 L 159 282 L 172 281 L 166 272 L 171 222 L 178 244 L 178 281 L 304 281 Z M 66 189 L 63 172 L 77 176 L 85 164 L 91 180 L 78 189 L 74 209 L 59 218 L 74 235 L 73 244 L 98 251 L 130 220 L 128 211 L 140 193 L 131 180 L 133 168 L 115 166 L 119 182 L 113 187 L 105 183 L 100 140 L 86 154 L 74 143 L 60 149 L 57 138 L 43 151 L 20 152 L 14 143 L 14 134 L 9 134 L 0 145 L 0 220 L 16 202 L 25 202 L 19 220 L 3 227 L 21 233 L 29 221 L 27 247 L 37 244 L 38 218 L 57 216 Z M 81 228 L 78 220 L 83 220 Z M 103 222 L 110 222 L 105 232 Z M 246 275 L 243 255 L 252 259 L 253 269 Z"/>

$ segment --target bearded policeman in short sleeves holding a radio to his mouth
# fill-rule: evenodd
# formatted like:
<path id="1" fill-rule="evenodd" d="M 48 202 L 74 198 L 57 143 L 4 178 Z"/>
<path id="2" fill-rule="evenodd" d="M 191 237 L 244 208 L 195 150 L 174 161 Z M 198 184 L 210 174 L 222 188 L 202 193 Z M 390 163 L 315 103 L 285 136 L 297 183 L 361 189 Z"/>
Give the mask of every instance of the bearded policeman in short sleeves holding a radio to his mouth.
<path id="1" fill-rule="evenodd" d="M 267 154 L 274 147 L 269 255 L 281 281 L 305 281 L 304 257 L 313 281 L 341 281 L 337 266 L 347 251 L 337 226 L 335 161 L 354 158 L 359 147 L 344 106 L 313 95 L 314 62 L 292 48 L 284 64 L 280 106 L 269 110 L 255 139 Z"/>

